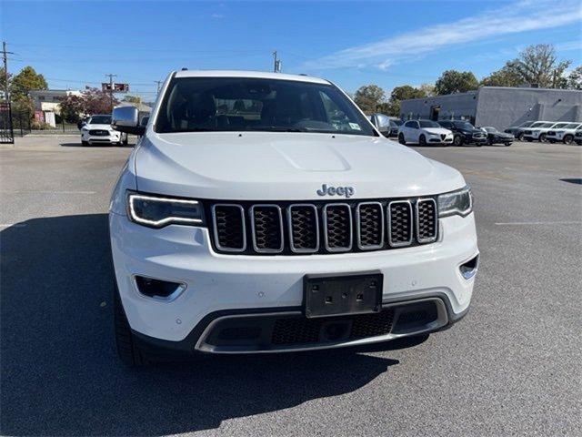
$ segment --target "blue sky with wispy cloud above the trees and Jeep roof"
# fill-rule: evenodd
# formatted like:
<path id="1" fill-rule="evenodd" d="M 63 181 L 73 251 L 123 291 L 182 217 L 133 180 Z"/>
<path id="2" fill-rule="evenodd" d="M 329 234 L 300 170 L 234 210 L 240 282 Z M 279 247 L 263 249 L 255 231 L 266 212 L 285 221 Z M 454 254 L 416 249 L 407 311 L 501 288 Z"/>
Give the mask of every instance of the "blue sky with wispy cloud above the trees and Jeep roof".
<path id="1" fill-rule="evenodd" d="M 172 69 L 272 69 L 323 76 L 353 92 L 434 83 L 446 69 L 487 74 L 531 44 L 582 64 L 578 0 L 376 2 L 6 2 L 9 71 L 31 65 L 51 88 L 106 73 L 155 96 Z"/>

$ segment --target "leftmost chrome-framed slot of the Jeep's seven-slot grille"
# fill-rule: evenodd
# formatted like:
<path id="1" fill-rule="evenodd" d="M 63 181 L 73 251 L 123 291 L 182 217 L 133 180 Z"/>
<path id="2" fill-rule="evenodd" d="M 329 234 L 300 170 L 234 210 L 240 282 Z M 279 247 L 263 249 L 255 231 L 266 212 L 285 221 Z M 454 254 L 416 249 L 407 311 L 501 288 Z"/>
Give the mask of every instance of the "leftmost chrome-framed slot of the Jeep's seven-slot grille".
<path id="1" fill-rule="evenodd" d="M 242 252 L 246 249 L 245 213 L 238 205 L 213 207 L 215 241 L 220 250 Z"/>

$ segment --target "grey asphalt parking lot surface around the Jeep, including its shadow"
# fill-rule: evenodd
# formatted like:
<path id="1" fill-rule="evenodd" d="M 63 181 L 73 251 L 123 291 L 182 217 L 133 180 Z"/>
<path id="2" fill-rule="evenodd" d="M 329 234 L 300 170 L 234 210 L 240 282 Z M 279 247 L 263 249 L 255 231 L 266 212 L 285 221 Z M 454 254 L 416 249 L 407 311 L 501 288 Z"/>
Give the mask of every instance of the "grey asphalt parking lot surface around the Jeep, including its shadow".
<path id="1" fill-rule="evenodd" d="M 580 435 L 582 147 L 417 148 L 476 196 L 472 308 L 413 347 L 126 369 L 106 211 L 129 147 L 0 148 L 3 435 Z"/>

